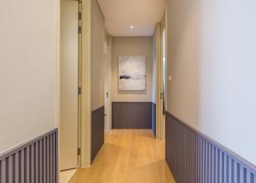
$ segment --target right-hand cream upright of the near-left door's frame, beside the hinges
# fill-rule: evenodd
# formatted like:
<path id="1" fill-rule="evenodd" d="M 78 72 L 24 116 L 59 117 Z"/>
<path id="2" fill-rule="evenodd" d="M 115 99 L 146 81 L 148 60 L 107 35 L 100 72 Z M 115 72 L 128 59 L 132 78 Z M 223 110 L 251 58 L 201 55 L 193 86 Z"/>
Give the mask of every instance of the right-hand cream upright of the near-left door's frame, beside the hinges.
<path id="1" fill-rule="evenodd" d="M 91 1 L 82 1 L 81 167 L 91 166 Z"/>

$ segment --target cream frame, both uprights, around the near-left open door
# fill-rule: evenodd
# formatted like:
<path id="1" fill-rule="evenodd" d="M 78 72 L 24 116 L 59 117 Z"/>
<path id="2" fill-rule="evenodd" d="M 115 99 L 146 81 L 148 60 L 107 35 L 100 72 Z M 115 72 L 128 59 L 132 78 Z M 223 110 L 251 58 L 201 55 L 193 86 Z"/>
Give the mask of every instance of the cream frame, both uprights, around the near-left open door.
<path id="1" fill-rule="evenodd" d="M 90 47 L 91 47 L 91 1 L 79 0 L 79 10 L 82 13 L 82 20 L 79 25 L 82 26 L 82 34 L 79 43 L 79 86 L 84 88 L 81 91 L 81 113 L 80 136 L 81 155 L 78 160 L 78 167 L 89 167 L 91 164 L 91 107 L 90 107 Z M 58 181 L 60 181 L 60 0 L 54 0 L 54 126 L 58 128 Z M 82 24 L 83 23 L 83 24 Z M 82 25 L 81 25 L 82 24 Z M 83 63 L 83 65 L 82 65 Z"/>

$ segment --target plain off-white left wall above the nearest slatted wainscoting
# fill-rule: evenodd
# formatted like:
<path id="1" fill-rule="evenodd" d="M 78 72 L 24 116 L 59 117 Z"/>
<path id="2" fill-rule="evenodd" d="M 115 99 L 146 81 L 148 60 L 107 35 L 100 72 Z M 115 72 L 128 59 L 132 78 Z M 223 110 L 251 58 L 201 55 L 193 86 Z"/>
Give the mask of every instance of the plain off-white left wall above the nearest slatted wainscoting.
<path id="1" fill-rule="evenodd" d="M 54 1 L 1 1 L 0 153 L 54 128 Z"/>

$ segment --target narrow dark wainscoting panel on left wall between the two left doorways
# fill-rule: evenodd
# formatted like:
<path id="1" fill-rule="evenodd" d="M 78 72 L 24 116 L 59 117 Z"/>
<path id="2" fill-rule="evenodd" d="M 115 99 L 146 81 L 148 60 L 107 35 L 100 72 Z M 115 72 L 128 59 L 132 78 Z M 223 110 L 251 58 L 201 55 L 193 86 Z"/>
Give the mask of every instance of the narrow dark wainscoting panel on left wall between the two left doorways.
<path id="1" fill-rule="evenodd" d="M 104 144 L 104 106 L 92 111 L 92 162 Z"/>

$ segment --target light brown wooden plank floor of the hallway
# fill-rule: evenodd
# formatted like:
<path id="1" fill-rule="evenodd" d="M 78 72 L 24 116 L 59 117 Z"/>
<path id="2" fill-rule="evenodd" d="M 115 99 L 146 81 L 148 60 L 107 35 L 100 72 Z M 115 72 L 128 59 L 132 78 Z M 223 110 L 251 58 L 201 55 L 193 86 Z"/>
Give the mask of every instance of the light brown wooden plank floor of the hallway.
<path id="1" fill-rule="evenodd" d="M 164 160 L 163 141 L 150 130 L 113 130 L 105 133 L 105 144 L 91 168 L 77 171 L 74 182 L 173 183 Z"/>

